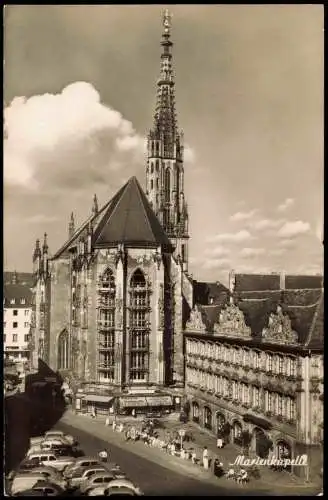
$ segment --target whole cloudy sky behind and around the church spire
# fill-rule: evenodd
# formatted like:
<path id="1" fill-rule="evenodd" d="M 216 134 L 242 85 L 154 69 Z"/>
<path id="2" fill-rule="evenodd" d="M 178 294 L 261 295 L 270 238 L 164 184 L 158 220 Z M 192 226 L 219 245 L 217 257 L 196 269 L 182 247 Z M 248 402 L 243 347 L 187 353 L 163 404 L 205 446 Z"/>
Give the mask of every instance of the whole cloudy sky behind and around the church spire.
<path id="1" fill-rule="evenodd" d="M 94 193 L 145 186 L 164 7 L 6 7 L 6 270 L 32 270 L 44 232 L 54 254 Z M 170 10 L 190 272 L 321 272 L 323 6 Z"/>

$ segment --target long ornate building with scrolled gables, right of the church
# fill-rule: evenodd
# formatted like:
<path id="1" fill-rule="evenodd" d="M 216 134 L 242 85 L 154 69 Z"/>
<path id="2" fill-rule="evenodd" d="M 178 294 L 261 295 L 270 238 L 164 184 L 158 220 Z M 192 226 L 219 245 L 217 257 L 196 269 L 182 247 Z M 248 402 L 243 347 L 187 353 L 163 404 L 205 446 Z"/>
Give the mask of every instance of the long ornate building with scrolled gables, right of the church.
<path id="1" fill-rule="evenodd" d="M 223 303 L 195 304 L 185 328 L 191 418 L 239 445 L 247 431 L 260 456 L 307 454 L 310 467 L 294 472 L 317 473 L 323 304 L 321 277 L 234 273 Z"/>

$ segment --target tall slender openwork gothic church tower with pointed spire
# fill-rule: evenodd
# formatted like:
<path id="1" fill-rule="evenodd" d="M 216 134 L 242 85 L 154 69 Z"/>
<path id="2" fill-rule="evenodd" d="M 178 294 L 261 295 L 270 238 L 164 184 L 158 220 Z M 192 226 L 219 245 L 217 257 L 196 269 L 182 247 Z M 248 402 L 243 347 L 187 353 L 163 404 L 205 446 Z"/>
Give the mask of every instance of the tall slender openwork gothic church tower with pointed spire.
<path id="1" fill-rule="evenodd" d="M 188 271 L 188 209 L 184 195 L 183 132 L 175 112 L 171 16 L 163 16 L 160 77 L 153 127 L 148 135 L 146 186 L 150 204 Z"/>

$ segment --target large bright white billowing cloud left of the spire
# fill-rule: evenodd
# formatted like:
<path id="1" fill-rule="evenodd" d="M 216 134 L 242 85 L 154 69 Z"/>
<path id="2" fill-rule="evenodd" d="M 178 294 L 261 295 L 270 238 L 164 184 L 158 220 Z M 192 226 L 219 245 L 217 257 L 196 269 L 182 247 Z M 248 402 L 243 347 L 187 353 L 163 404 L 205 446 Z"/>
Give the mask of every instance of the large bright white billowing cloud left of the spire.
<path id="1" fill-rule="evenodd" d="M 58 94 L 15 97 L 4 111 L 5 184 L 90 189 L 111 171 L 144 164 L 144 138 L 97 90 L 75 82 Z"/>

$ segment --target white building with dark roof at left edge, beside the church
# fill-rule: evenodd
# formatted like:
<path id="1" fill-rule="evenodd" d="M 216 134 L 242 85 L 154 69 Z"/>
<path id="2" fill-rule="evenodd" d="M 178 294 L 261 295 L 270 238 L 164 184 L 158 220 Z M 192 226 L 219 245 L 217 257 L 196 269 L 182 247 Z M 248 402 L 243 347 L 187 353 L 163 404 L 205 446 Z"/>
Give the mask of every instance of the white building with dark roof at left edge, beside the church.
<path id="1" fill-rule="evenodd" d="M 4 285 L 3 343 L 4 355 L 14 361 L 28 361 L 30 357 L 30 328 L 32 292 L 19 283 L 17 273 L 12 282 Z"/>

